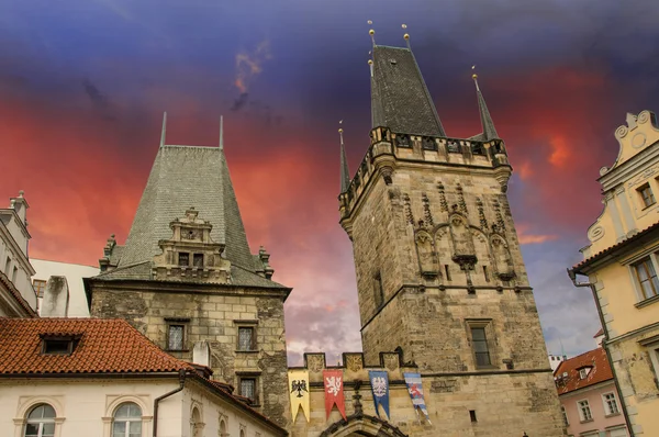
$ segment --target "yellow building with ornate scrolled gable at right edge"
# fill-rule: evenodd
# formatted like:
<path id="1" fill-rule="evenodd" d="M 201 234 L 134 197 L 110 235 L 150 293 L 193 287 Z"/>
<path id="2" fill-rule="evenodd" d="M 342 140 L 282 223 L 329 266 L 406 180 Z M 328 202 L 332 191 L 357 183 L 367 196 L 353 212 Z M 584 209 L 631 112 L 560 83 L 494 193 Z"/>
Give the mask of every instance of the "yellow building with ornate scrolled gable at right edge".
<path id="1" fill-rule="evenodd" d="M 604 211 L 570 270 L 591 288 L 633 435 L 659 435 L 659 126 L 650 111 L 627 114 L 619 153 L 600 170 Z M 588 282 L 577 282 L 577 274 Z"/>

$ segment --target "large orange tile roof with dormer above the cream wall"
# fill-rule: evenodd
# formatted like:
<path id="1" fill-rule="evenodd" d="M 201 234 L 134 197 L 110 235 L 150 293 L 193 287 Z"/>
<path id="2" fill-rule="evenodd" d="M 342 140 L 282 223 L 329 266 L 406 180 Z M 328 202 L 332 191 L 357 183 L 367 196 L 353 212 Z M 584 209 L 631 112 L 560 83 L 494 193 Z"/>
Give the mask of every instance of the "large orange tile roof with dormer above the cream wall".
<path id="1" fill-rule="evenodd" d="M 42 354 L 42 336 L 76 336 L 71 355 Z M 0 317 L 0 374 L 136 373 L 192 369 L 126 321 Z"/>

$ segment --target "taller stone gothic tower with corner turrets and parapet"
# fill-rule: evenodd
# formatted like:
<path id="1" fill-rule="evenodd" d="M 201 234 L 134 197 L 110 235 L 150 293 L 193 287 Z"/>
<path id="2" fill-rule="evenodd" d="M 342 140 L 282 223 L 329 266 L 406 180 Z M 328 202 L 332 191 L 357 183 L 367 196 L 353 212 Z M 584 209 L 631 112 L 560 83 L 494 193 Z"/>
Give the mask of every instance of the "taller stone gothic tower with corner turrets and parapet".
<path id="1" fill-rule="evenodd" d="M 399 350 L 431 379 L 424 386 L 443 410 L 467 408 L 472 422 L 492 425 L 476 435 L 559 435 L 556 389 L 506 197 L 512 168 L 478 82 L 482 133 L 455 138 L 409 47 L 375 45 L 369 64 L 370 146 L 351 179 L 342 152 L 339 194 L 366 360 Z"/>

